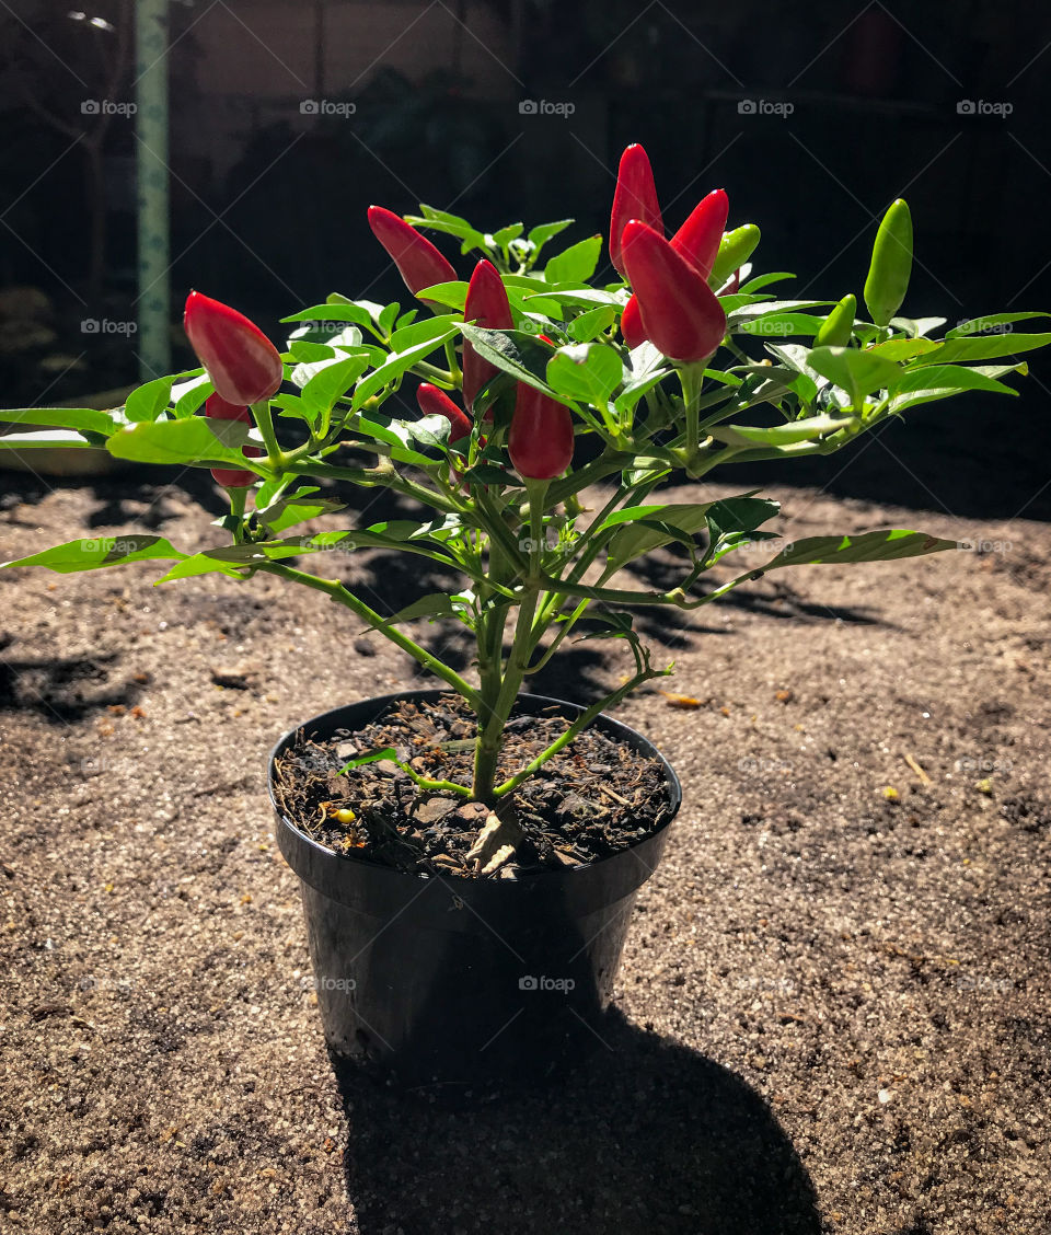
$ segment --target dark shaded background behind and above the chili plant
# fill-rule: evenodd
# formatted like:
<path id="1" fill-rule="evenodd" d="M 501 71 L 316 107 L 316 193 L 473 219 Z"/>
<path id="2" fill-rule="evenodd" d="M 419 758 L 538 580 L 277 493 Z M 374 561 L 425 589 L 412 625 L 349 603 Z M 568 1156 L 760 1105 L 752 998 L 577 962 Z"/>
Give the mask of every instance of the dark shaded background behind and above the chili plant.
<path id="1" fill-rule="evenodd" d="M 1051 310 L 1042 5 L 79 2 L 0 5 L 7 406 L 86 403 L 165 359 L 190 364 L 190 287 L 275 338 L 280 316 L 330 291 L 404 303 L 372 203 L 426 201 L 487 230 L 572 214 L 567 241 L 604 232 L 631 141 L 666 224 L 725 186 L 731 226 L 762 228 L 757 270 L 799 275 L 785 295 L 860 293 L 900 195 L 916 230 L 910 316 Z M 143 314 L 163 338 L 143 335 Z M 920 408 L 777 478 L 1049 519 L 1044 353 L 1034 368 L 1018 401 Z"/>

